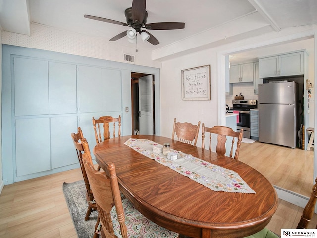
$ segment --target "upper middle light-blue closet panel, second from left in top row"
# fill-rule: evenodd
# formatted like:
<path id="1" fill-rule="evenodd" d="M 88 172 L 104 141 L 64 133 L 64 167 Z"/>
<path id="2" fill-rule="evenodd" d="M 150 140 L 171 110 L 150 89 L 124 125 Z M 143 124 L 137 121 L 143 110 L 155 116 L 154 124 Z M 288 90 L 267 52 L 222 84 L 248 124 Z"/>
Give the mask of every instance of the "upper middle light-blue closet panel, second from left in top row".
<path id="1" fill-rule="evenodd" d="M 76 65 L 49 62 L 50 114 L 77 112 Z"/>

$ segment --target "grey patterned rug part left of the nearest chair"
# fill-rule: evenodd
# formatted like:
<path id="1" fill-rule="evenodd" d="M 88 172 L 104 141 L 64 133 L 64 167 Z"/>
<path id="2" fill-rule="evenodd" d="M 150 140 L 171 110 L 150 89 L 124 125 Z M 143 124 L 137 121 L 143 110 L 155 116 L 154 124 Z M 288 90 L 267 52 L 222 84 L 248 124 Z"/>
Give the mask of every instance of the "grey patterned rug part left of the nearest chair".
<path id="1" fill-rule="evenodd" d="M 84 180 L 74 183 L 64 182 L 63 192 L 78 238 L 92 238 L 97 222 L 97 211 L 91 212 L 89 220 L 85 221 L 88 206 Z"/>

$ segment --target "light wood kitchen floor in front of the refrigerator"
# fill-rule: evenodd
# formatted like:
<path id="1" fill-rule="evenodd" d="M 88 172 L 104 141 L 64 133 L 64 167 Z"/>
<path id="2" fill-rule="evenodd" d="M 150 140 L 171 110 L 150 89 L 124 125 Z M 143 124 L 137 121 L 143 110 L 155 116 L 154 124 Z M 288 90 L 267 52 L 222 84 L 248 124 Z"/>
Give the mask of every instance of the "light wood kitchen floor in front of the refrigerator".
<path id="1" fill-rule="evenodd" d="M 314 151 L 254 142 L 242 143 L 239 160 L 262 173 L 273 185 L 310 197 Z"/>

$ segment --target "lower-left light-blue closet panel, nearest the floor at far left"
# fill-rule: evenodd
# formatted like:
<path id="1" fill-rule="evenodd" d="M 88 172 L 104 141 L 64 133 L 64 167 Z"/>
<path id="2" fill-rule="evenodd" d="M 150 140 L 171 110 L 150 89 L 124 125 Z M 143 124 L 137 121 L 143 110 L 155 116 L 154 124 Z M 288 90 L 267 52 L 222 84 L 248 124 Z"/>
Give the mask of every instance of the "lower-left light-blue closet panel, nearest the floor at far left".
<path id="1" fill-rule="evenodd" d="M 16 176 L 51 169 L 50 119 L 15 120 Z"/>

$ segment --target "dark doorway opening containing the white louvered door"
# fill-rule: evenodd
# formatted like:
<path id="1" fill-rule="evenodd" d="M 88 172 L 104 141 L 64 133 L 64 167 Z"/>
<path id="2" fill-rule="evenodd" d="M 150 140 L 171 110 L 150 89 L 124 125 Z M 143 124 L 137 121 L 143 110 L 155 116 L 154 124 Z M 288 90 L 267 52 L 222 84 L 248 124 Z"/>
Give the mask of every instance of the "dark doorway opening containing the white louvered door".
<path id="1" fill-rule="evenodd" d="M 132 133 L 155 135 L 154 75 L 131 72 Z"/>

